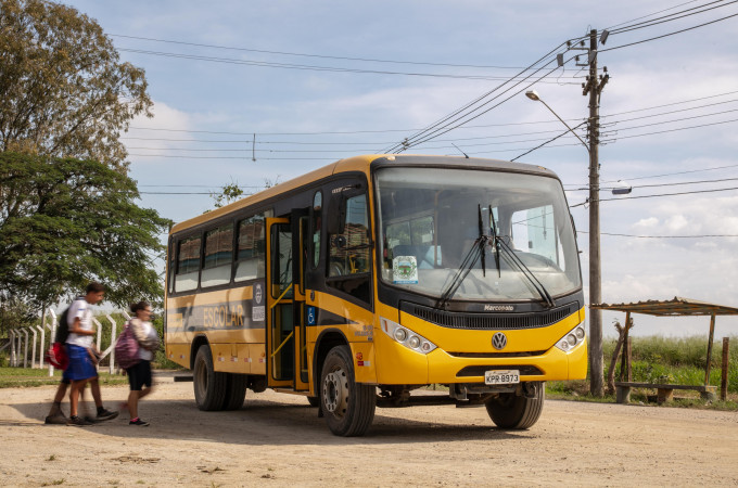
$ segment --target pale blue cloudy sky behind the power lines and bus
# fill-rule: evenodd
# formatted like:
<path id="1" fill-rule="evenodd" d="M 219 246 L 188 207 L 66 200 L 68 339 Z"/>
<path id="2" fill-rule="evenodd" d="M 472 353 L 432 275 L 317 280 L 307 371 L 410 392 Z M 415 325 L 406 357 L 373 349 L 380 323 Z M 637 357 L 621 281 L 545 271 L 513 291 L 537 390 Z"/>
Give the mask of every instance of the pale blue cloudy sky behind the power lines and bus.
<path id="1" fill-rule="evenodd" d="M 738 307 L 738 3 L 63 3 L 145 69 L 155 116 L 132 120 L 123 140 L 141 205 L 175 221 L 212 208 L 209 192 L 226 184 L 251 193 L 386 151 L 491 92 L 458 127 L 408 152 L 517 158 L 567 130 L 526 90 L 571 127 L 585 120 L 587 72 L 572 57 L 584 64 L 586 51 L 565 41 L 609 29 L 598 48 L 599 74 L 607 66 L 610 75 L 600 99 L 602 300 L 679 296 Z M 568 61 L 561 68 L 557 53 Z M 506 82 L 514 88 L 499 95 Z M 569 133 L 517 160 L 561 178 L 588 297 L 586 149 Z M 613 195 L 615 185 L 633 191 Z M 707 337 L 710 323 L 634 319 L 633 335 Z M 615 335 L 614 320 L 624 317 L 603 313 L 606 336 Z M 738 319 L 717 318 L 715 337 L 736 334 Z"/>

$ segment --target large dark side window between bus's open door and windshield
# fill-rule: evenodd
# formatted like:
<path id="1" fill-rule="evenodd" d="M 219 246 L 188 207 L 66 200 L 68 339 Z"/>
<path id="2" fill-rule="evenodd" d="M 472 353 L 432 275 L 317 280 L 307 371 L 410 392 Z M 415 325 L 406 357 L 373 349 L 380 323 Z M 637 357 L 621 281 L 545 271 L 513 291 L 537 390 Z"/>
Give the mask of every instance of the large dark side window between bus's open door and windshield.
<path id="1" fill-rule="evenodd" d="M 346 198 L 344 208 L 330 218 L 343 217 L 342 232 L 328 235 L 328 284 L 369 303 L 371 243 L 367 195 Z"/>

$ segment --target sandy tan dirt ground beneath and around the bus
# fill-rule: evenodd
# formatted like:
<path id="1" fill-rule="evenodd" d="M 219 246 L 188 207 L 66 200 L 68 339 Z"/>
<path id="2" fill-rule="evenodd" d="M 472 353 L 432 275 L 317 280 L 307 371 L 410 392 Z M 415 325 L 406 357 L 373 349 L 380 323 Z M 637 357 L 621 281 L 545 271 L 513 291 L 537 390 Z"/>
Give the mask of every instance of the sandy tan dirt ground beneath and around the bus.
<path id="1" fill-rule="evenodd" d="M 533 428 L 504 432 L 484 408 L 378 409 L 366 437 L 339 438 L 303 397 L 250 391 L 240 411 L 201 412 L 191 383 L 157 387 L 140 408 L 150 427 L 43 425 L 54 387 L 0 389 L 0 484 L 738 485 L 736 412 L 547 400 Z"/>

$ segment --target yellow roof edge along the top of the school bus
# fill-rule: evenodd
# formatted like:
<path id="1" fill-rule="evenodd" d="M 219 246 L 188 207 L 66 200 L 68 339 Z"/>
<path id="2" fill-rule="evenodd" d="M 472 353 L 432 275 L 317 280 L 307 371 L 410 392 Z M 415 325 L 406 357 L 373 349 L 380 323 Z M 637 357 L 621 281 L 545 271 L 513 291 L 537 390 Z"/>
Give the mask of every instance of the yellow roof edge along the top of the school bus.
<path id="1" fill-rule="evenodd" d="M 465 156 L 431 156 L 424 154 L 364 154 L 360 156 L 347 157 L 344 159 L 339 159 L 335 163 L 331 163 L 322 168 L 315 169 L 305 175 L 302 175 L 292 180 L 285 181 L 283 183 L 276 184 L 271 188 L 265 189 L 260 192 L 254 193 L 253 195 L 245 196 L 244 198 L 233 202 L 229 205 L 216 208 L 215 210 L 207 211 L 198 217 L 184 220 L 175 224 L 169 233 L 179 232 L 191 227 L 198 226 L 200 223 L 217 219 L 220 216 L 227 215 L 233 210 L 238 210 L 250 205 L 257 204 L 259 202 L 266 201 L 272 196 L 279 195 L 281 193 L 288 192 L 290 190 L 300 188 L 311 181 L 319 180 L 321 178 L 327 178 L 331 175 L 347 172 L 347 171 L 360 171 L 369 174 L 370 165 L 374 163 L 377 166 L 384 165 L 408 165 L 408 166 L 435 166 L 435 165 L 447 165 L 450 167 L 466 167 L 480 169 L 505 169 L 521 172 L 534 172 L 546 176 L 556 176 L 551 170 L 544 168 L 543 166 L 533 166 L 523 163 L 510 163 L 500 159 L 486 159 L 476 157 L 465 157 Z"/>

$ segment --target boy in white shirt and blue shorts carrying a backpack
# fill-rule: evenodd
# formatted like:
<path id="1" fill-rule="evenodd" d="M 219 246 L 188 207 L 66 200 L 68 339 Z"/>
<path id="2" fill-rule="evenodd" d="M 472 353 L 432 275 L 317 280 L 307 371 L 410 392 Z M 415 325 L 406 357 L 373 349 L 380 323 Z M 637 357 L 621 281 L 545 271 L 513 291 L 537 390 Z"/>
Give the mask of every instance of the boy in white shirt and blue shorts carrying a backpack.
<path id="1" fill-rule="evenodd" d="M 69 308 L 64 311 L 62 316 L 62 323 L 60 324 L 60 333 L 56 339 L 61 342 L 64 334 L 64 323 L 68 326 L 68 336 L 64 341 L 66 345 L 67 356 L 69 357 L 69 364 L 64 370 L 62 381 L 56 389 L 54 402 L 51 411 L 46 419 L 47 424 L 66 423 L 67 425 L 90 425 L 93 422 L 115 419 L 118 412 L 113 412 L 105 409 L 102 404 L 102 397 L 100 395 L 100 383 L 98 382 L 98 371 L 96 364 L 98 362 L 96 350 L 92 347 L 92 337 L 94 336 L 94 326 L 92 325 L 92 311 L 90 305 L 96 305 L 103 299 L 105 295 L 105 287 L 100 283 L 90 283 L 87 285 L 86 295 L 78 297 L 72 303 Z M 66 319 L 66 320 L 64 320 Z M 79 395 L 84 390 L 87 382 L 90 382 L 90 389 L 92 390 L 92 398 L 98 408 L 98 414 L 94 418 L 82 419 L 77 415 L 77 407 L 79 402 Z M 66 420 L 61 410 L 61 402 L 64 399 L 67 387 L 72 385 L 69 391 L 69 419 Z"/>

